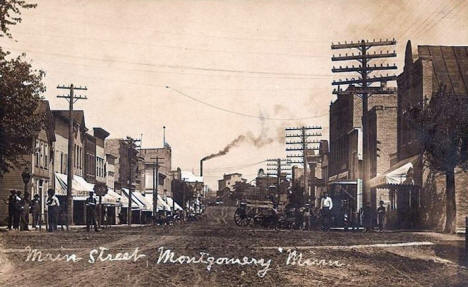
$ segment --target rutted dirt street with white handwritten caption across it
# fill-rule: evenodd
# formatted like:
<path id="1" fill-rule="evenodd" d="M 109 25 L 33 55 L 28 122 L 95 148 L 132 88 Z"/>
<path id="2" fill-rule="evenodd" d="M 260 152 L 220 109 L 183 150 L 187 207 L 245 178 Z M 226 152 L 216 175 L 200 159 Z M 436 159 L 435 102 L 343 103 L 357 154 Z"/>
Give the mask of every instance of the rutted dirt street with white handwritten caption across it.
<path id="1" fill-rule="evenodd" d="M 454 235 L 240 228 L 232 215 L 212 207 L 168 227 L 2 232 L 0 286 L 468 286 Z"/>

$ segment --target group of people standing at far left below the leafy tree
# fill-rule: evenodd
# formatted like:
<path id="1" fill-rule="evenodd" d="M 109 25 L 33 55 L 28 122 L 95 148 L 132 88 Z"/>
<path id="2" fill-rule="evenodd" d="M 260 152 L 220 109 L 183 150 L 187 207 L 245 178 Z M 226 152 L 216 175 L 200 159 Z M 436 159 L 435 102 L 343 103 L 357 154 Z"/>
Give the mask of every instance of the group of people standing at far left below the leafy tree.
<path id="1" fill-rule="evenodd" d="M 8 229 L 29 230 L 29 214 L 32 214 L 32 226 L 40 224 L 41 203 L 38 194 L 31 200 L 28 192 L 22 195 L 20 190 L 10 190 L 8 197 Z"/>

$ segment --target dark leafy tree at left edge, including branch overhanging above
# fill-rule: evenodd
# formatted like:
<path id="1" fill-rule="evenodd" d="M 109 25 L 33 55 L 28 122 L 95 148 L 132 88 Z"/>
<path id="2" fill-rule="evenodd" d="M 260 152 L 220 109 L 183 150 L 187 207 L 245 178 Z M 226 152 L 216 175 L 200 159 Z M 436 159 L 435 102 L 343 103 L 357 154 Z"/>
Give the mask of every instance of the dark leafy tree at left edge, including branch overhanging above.
<path id="1" fill-rule="evenodd" d="M 35 6 L 0 1 L 0 37 L 12 38 L 9 28 L 21 22 L 21 10 Z M 32 138 L 43 123 L 38 106 L 44 72 L 34 70 L 24 57 L 11 57 L 0 48 L 0 177 L 19 163 L 20 155 L 32 152 Z"/>

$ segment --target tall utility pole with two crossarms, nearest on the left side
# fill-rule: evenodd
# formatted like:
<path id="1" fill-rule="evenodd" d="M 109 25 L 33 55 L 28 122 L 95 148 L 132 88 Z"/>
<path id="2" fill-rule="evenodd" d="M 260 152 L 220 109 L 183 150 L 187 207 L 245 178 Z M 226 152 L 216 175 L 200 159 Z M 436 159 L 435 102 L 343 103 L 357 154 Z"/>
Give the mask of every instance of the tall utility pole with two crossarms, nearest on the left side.
<path id="1" fill-rule="evenodd" d="M 67 230 L 73 224 L 73 194 L 72 194 L 72 180 L 73 180 L 73 104 L 78 100 L 88 99 L 86 96 L 75 96 L 75 90 L 87 91 L 86 87 L 75 87 L 73 84 L 70 86 L 57 86 L 57 89 L 68 90 L 69 94 L 65 96 L 57 96 L 68 101 L 68 162 L 67 162 Z M 77 154 L 78 156 L 78 154 Z"/>

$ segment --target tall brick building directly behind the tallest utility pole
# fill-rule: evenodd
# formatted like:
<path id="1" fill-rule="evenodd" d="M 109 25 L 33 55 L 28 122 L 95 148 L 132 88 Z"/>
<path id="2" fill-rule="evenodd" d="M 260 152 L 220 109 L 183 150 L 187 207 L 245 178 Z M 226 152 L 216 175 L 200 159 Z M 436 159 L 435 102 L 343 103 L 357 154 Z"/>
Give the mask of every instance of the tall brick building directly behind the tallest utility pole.
<path id="1" fill-rule="evenodd" d="M 392 121 L 396 122 L 396 114 L 391 112 L 386 115 L 386 111 L 393 111 L 397 105 L 396 89 L 381 83 L 381 87 L 370 87 L 376 92 L 386 89 L 389 94 L 372 94 L 368 102 L 368 115 L 374 123 L 373 142 L 383 147 L 393 146 L 396 142 L 396 134 L 385 136 L 379 130 L 391 129 Z M 332 193 L 346 191 L 352 195 L 355 210 L 359 210 L 363 203 L 362 171 L 363 160 L 363 134 L 362 134 L 362 99 L 354 93 L 355 87 L 350 85 L 344 93 L 339 93 L 334 102 L 330 105 L 330 151 L 327 156 L 327 184 L 328 190 Z M 378 107 L 375 108 L 374 107 Z M 385 116 L 381 111 L 385 111 Z M 394 117 L 393 120 L 389 117 Z M 388 126 L 388 127 L 387 127 Z M 380 137 L 380 138 L 379 138 Z M 378 160 L 374 155 L 372 160 L 374 170 L 385 169 L 390 166 L 389 158 L 382 157 Z M 369 190 L 369 189 L 366 189 Z M 370 198 L 370 194 L 368 197 Z M 338 203 L 337 203 L 338 204 Z"/>

